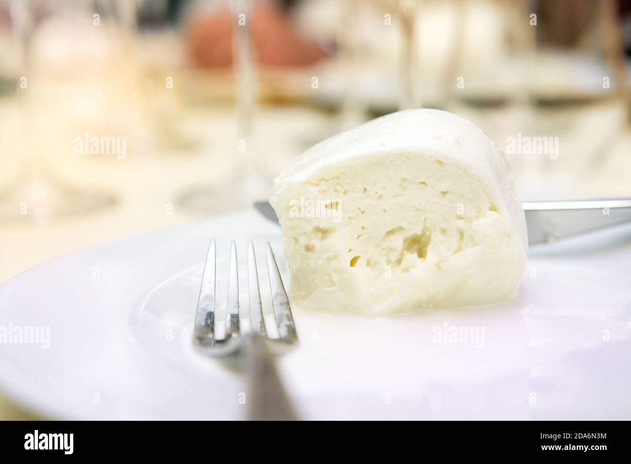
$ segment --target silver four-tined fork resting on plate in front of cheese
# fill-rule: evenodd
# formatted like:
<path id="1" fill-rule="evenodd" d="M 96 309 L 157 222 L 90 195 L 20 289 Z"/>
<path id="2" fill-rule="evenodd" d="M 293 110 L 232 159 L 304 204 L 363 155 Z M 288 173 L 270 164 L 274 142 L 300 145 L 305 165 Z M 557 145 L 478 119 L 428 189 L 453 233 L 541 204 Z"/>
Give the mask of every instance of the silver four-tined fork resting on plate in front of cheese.
<path id="1" fill-rule="evenodd" d="M 237 247 L 230 244 L 230 266 L 228 268 L 228 299 L 226 311 L 226 331 L 224 338 L 215 338 L 215 241 L 210 242 L 208 255 L 199 289 L 199 300 L 195 315 L 193 343 L 204 354 L 213 357 L 225 357 L 243 353 L 246 359 L 246 372 L 249 392 L 245 402 L 249 405 L 250 420 L 295 420 L 291 404 L 281 384 L 274 352 L 283 352 L 298 342 L 292 309 L 280 277 L 276 259 L 269 243 L 266 246 L 266 258 L 269 274 L 269 288 L 272 294 L 274 319 L 278 328 L 278 339 L 267 336 L 262 314 L 259 277 L 256 270 L 256 256 L 252 241 L 248 245 L 248 291 L 250 300 L 250 325 L 248 333 L 241 334 L 239 318 L 239 273 L 237 268 Z"/>

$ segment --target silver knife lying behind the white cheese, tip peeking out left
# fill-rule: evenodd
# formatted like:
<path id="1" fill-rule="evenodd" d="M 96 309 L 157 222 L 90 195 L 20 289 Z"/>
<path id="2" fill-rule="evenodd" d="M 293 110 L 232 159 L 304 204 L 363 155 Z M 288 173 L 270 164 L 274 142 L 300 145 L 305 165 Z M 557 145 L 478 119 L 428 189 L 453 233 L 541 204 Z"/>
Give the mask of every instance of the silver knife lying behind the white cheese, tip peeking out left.
<path id="1" fill-rule="evenodd" d="M 267 201 L 257 201 L 254 207 L 278 223 Z M 524 211 L 528 244 L 534 245 L 631 222 L 631 199 L 531 201 L 524 203 Z"/>

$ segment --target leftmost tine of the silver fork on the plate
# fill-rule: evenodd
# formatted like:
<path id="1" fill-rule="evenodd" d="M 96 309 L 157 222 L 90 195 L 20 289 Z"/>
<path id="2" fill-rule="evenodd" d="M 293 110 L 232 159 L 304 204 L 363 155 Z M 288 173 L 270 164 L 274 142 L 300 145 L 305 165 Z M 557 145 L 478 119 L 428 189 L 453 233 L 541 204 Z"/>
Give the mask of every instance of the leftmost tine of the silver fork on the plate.
<path id="1" fill-rule="evenodd" d="M 194 337 L 198 343 L 215 342 L 215 241 L 211 240 L 199 287 Z"/>

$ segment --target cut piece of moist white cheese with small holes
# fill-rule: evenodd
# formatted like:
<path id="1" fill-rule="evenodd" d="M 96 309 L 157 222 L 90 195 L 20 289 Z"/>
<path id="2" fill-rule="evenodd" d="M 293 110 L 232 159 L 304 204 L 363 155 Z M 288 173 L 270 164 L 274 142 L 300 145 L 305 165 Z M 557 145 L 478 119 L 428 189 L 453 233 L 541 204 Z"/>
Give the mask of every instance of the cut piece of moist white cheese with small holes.
<path id="1" fill-rule="evenodd" d="M 274 181 L 304 309 L 371 314 L 516 294 L 526 222 L 503 153 L 449 112 L 406 110 L 313 146 Z"/>

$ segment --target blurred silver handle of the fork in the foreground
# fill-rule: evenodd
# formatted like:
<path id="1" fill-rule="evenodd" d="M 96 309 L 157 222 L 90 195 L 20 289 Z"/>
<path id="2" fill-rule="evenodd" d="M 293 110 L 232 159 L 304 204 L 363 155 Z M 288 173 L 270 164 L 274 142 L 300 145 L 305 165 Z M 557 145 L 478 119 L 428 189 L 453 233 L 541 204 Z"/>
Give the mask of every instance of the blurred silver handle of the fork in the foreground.
<path id="1" fill-rule="evenodd" d="M 260 335 L 244 337 L 249 393 L 248 420 L 298 420 L 276 371 L 274 355 Z"/>

